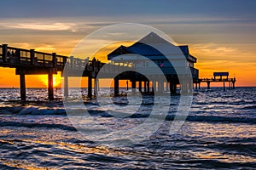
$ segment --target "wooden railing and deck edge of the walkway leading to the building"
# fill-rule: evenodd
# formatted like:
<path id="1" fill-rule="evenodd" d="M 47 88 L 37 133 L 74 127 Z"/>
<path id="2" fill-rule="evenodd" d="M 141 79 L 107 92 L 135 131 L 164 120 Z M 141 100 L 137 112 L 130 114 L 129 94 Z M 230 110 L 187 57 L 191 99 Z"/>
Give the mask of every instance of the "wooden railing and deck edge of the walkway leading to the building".
<path id="1" fill-rule="evenodd" d="M 67 57 L 59 54 L 49 54 L 38 52 L 34 49 L 22 49 L 9 47 L 6 44 L 0 45 L 0 64 L 6 67 L 18 66 L 38 66 L 46 68 L 57 68 L 58 71 L 63 71 L 64 66 L 67 65 L 73 69 L 83 69 L 84 71 L 98 72 L 103 65 L 104 71 L 116 72 L 122 71 L 124 67 L 131 67 L 131 64 L 102 63 L 100 60 L 79 59 L 73 56 Z"/>

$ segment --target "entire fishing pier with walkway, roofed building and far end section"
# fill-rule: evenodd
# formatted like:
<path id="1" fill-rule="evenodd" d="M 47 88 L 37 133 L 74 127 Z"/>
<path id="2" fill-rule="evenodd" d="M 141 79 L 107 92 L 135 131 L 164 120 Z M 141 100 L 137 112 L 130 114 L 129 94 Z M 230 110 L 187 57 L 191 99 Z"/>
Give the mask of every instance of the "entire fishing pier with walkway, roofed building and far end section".
<path id="1" fill-rule="evenodd" d="M 150 43 L 162 46 L 167 56 L 148 45 Z M 116 56 L 121 58 L 117 59 Z M 172 62 L 166 57 L 172 59 Z M 48 75 L 48 97 L 53 100 L 53 75 L 57 72 L 61 72 L 64 79 L 64 97 L 69 95 L 68 77 L 87 77 L 87 96 L 91 98 L 93 89 L 94 94 L 97 93 L 99 74 L 102 76 L 100 78 L 113 79 L 113 94 L 116 96 L 119 95 L 119 80 L 126 80 L 127 88 L 129 80 L 132 93 L 136 93 L 138 84 L 138 91 L 143 94 L 163 94 L 165 89 L 171 94 L 176 94 L 177 85 L 182 93 L 192 94 L 192 89 L 200 88 L 201 82 L 207 82 L 207 88 L 210 88 L 212 82 L 223 82 L 224 89 L 225 82 L 230 82 L 230 88 L 235 88 L 236 78 L 229 78 L 229 73 L 226 72 L 214 73 L 212 79 L 200 79 L 199 71 L 194 67 L 196 58 L 189 54 L 189 47 L 173 45 L 154 32 L 150 32 L 130 47 L 121 45 L 116 48 L 108 54 L 108 61 L 102 63 L 95 58 L 79 59 L 34 49 L 9 47 L 8 44 L 0 45 L 0 66 L 14 68 L 15 74 L 20 76 L 21 100 L 26 100 L 26 75 Z M 155 67 L 160 69 L 160 73 L 152 71 Z M 140 71 L 150 72 L 149 78 L 140 74 Z M 160 80 L 161 75 L 166 79 Z"/>

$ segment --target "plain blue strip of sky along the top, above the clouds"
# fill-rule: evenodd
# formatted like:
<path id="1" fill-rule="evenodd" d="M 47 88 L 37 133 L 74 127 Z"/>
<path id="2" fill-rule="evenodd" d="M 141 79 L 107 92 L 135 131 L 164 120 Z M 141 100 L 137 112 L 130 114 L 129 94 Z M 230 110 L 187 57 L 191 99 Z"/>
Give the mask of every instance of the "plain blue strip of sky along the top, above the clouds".
<path id="1" fill-rule="evenodd" d="M 252 19 L 254 0 L 9 0 L 1 2 L 1 17 L 78 17 L 126 15 L 192 15 Z"/>

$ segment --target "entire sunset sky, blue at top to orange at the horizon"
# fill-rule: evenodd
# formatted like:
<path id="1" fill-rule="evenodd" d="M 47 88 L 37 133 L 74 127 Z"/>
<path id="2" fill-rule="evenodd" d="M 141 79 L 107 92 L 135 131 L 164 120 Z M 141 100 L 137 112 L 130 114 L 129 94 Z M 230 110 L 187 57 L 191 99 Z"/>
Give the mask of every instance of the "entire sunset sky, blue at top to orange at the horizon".
<path id="1" fill-rule="evenodd" d="M 69 55 L 103 26 L 139 23 L 189 45 L 200 77 L 230 71 L 238 86 L 256 86 L 255 8 L 254 0 L 9 0 L 0 6 L 0 43 Z M 0 71 L 0 88 L 20 86 L 14 69 Z M 26 87 L 45 87 L 46 79 L 26 76 Z"/>

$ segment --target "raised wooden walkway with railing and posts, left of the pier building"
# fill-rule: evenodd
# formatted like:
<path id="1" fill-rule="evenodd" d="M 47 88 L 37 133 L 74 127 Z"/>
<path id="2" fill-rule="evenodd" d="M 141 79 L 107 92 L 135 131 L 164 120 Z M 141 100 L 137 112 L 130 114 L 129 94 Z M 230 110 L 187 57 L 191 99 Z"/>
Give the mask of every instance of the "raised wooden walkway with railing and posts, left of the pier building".
<path id="1" fill-rule="evenodd" d="M 131 67 L 131 64 L 119 63 L 102 63 L 100 60 L 79 59 L 67 57 L 59 54 L 49 54 L 35 51 L 34 49 L 23 49 L 9 47 L 8 44 L 0 45 L 0 66 L 15 68 L 15 74 L 20 76 L 20 99 L 26 100 L 26 80 L 25 75 L 48 75 L 48 96 L 49 100 L 54 99 L 53 89 L 53 74 L 64 71 L 65 65 L 68 65 L 73 71 L 68 77 L 77 77 L 72 75 L 72 72 L 82 71 L 83 77 L 88 77 L 88 96 L 91 97 L 92 78 L 95 78 L 97 73 L 104 65 L 103 72 L 106 77 L 111 77 L 113 74 L 123 70 L 124 67 Z M 68 95 L 68 77 L 64 77 L 65 96 Z"/>

